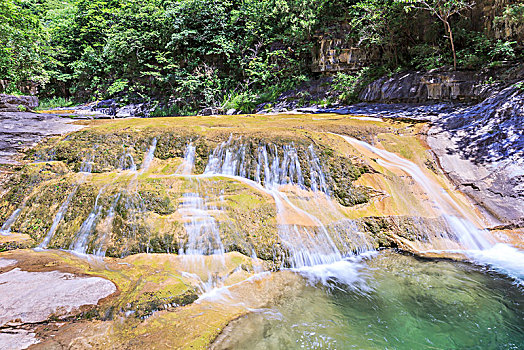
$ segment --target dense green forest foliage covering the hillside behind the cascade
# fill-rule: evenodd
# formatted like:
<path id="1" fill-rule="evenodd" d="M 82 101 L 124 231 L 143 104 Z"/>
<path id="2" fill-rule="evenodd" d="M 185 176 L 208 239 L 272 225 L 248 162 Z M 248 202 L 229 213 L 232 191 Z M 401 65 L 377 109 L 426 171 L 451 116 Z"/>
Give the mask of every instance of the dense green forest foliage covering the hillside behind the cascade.
<path id="1" fill-rule="evenodd" d="M 522 21 L 523 8 L 498 20 Z M 459 66 L 521 57 L 460 13 L 447 20 Z M 78 101 L 153 99 L 164 113 L 249 110 L 310 78 L 316 38 L 342 25 L 345 40 L 380 52 L 366 74 L 453 63 L 448 27 L 401 0 L 2 0 L 0 80 Z"/>

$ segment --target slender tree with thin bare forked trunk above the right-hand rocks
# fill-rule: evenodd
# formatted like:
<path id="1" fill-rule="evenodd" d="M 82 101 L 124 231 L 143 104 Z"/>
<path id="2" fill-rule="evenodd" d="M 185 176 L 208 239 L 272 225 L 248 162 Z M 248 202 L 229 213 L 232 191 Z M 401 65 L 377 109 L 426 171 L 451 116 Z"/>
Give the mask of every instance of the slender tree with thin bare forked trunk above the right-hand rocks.
<path id="1" fill-rule="evenodd" d="M 444 24 L 444 29 L 448 34 L 449 42 L 451 44 L 451 51 L 453 53 L 453 68 L 457 69 L 457 54 L 455 52 L 455 43 L 453 41 L 453 32 L 449 22 L 451 16 L 454 14 L 461 15 L 465 10 L 471 9 L 475 6 L 474 1 L 469 0 L 397 0 L 407 4 L 406 10 L 420 9 L 429 11 L 432 15 L 437 16 Z"/>

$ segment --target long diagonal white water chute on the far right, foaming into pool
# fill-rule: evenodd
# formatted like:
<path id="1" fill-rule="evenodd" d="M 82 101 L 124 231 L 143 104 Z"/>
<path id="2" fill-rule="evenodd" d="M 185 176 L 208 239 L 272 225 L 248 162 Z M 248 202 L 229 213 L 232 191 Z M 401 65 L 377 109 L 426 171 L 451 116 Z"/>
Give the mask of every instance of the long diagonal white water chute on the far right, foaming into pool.
<path id="1" fill-rule="evenodd" d="M 524 252 L 507 244 L 491 243 L 487 238 L 487 232 L 477 228 L 470 220 L 471 214 L 465 212 L 459 203 L 442 187 L 429 179 L 415 163 L 364 141 L 344 135 L 337 136 L 342 137 L 353 146 L 371 151 L 379 157 L 378 164 L 390 170 L 400 169 L 411 176 L 433 201 L 442 218 L 460 240 L 465 249 L 459 252 L 464 253 L 478 264 L 491 266 L 520 280 L 524 278 Z"/>

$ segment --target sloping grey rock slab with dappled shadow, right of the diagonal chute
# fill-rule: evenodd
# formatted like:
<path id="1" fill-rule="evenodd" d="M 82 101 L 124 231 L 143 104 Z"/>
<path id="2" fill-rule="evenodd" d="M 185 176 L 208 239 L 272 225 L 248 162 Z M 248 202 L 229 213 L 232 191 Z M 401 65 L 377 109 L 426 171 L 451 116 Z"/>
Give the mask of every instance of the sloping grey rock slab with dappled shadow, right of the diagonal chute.
<path id="1" fill-rule="evenodd" d="M 524 227 L 524 91 L 508 87 L 433 123 L 428 144 L 460 190 L 502 224 Z"/>

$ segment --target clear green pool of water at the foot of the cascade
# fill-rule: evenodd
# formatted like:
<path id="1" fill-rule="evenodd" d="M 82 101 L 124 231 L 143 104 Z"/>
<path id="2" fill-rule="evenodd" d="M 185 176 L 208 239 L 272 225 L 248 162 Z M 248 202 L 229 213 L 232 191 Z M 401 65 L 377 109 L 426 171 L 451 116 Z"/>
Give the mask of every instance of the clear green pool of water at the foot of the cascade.
<path id="1" fill-rule="evenodd" d="M 383 253 L 367 288 L 301 288 L 229 327 L 228 349 L 524 349 L 524 291 L 468 264 Z"/>

